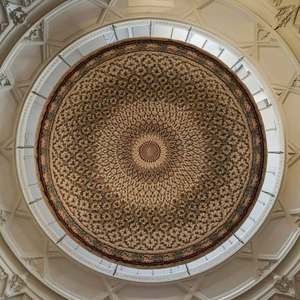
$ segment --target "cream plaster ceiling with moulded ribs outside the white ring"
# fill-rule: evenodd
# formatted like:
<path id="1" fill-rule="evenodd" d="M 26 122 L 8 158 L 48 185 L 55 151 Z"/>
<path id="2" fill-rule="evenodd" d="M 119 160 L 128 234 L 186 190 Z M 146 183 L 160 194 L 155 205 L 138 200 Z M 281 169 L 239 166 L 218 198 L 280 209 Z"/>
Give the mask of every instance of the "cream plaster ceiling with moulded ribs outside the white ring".
<path id="1" fill-rule="evenodd" d="M 297 297 L 300 292 L 298 4 L 298 0 L 11 0 L 8 4 L 1 0 L 0 74 L 4 75 L 0 79 L 0 299 L 1 296 L 18 300 Z M 17 174 L 16 154 L 24 151 L 16 151 L 19 117 L 39 75 L 80 37 L 132 19 L 186 23 L 232 46 L 264 79 L 277 101 L 284 128 L 284 177 L 268 218 L 237 253 L 200 274 L 172 282 L 129 282 L 101 274 L 68 256 L 33 217 Z M 32 26 L 27 28 L 25 21 Z M 274 25 L 279 27 L 272 29 Z M 70 63 L 79 58 L 74 57 Z M 55 84 L 55 77 L 47 80 Z M 37 98 L 35 105 L 42 105 L 41 100 Z M 25 272 L 29 273 L 27 277 L 14 276 Z M 284 278 L 279 285 L 273 284 L 273 273 L 286 275 L 285 287 L 280 285 Z"/>

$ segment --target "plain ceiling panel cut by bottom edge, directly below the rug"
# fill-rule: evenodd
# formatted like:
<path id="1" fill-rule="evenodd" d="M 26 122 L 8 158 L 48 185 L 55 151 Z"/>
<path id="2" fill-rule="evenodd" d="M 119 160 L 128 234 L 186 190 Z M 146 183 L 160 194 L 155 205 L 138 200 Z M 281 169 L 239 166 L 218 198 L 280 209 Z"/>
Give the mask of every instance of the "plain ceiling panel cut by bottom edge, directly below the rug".
<path id="1" fill-rule="evenodd" d="M 127 285 L 116 292 L 118 300 L 184 300 L 187 293 L 176 285 L 134 286 Z"/>

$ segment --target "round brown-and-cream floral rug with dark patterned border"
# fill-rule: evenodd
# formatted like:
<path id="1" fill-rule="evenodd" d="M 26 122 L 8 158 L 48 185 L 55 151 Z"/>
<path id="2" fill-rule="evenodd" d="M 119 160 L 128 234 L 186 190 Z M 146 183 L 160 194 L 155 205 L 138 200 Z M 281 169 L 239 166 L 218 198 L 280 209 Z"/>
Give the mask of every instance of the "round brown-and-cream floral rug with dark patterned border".
<path id="1" fill-rule="evenodd" d="M 219 59 L 180 41 L 133 38 L 73 65 L 35 139 L 43 198 L 61 228 L 110 262 L 166 268 L 241 226 L 267 161 L 259 110 Z"/>

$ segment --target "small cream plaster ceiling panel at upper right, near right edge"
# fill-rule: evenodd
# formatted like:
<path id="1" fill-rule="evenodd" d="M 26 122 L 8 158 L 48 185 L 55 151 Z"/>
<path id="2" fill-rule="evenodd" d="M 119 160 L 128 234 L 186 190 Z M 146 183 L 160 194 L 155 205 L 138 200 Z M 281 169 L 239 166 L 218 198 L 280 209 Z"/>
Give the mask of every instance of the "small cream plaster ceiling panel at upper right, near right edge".
<path id="1" fill-rule="evenodd" d="M 293 65 L 277 46 L 259 46 L 258 60 L 271 82 L 286 85 L 295 71 Z M 278 72 L 280 70 L 280 72 Z"/>

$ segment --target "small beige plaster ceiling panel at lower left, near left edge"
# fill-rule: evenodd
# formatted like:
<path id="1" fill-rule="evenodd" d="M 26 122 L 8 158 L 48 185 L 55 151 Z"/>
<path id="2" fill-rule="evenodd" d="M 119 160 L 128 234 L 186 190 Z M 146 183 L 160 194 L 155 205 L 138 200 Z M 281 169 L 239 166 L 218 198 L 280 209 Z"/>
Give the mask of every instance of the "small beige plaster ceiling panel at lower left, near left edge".
<path id="1" fill-rule="evenodd" d="M 23 254 L 41 254 L 44 236 L 29 217 L 15 215 L 9 232 Z"/>

